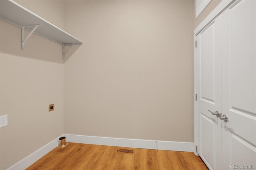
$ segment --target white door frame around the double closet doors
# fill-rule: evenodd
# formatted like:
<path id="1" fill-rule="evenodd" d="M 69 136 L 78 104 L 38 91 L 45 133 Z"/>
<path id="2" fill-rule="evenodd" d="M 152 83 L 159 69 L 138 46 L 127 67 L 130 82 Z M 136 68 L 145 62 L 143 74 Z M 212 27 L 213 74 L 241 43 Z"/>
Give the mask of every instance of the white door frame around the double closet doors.
<path id="1" fill-rule="evenodd" d="M 198 129 L 197 129 L 197 108 L 196 108 L 196 61 L 197 61 L 197 56 L 196 56 L 196 36 L 204 29 L 206 28 L 215 18 L 217 18 L 224 10 L 226 10 L 230 5 L 232 5 L 234 2 L 240 1 L 240 0 L 222 0 L 214 10 L 196 27 L 194 30 L 194 154 L 198 156 L 198 153 L 196 151 L 197 147 L 197 137 L 198 137 Z"/>

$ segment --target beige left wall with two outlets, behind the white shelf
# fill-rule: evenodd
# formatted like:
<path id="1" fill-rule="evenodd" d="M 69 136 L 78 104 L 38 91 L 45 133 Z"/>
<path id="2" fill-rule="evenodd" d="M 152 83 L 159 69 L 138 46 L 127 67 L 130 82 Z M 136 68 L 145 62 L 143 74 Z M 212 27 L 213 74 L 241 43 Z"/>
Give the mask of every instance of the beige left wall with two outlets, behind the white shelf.
<path id="1" fill-rule="evenodd" d="M 30 10 L 39 9 L 32 4 Z M 48 15 L 43 17 L 58 20 Z M 0 169 L 5 170 L 63 134 L 64 65 L 61 45 L 33 34 L 22 51 L 20 28 L 2 21 L 0 37 L 0 114 L 8 114 L 8 126 L 0 132 Z M 48 112 L 51 103 L 55 111 Z"/>

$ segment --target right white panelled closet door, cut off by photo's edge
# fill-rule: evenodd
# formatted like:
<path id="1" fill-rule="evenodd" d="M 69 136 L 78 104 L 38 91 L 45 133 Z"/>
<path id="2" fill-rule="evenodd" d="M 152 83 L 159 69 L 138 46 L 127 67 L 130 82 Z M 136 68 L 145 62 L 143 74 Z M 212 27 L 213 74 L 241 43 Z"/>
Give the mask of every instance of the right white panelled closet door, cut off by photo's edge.
<path id="1" fill-rule="evenodd" d="M 222 169 L 256 167 L 256 1 L 238 0 L 221 17 Z"/>

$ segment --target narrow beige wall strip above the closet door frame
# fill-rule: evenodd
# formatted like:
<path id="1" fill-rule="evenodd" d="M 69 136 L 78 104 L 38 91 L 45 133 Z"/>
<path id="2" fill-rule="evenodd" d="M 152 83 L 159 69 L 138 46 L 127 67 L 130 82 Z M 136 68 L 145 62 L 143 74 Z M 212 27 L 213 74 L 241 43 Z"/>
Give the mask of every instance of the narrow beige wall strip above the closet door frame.
<path id="1" fill-rule="evenodd" d="M 203 10 L 203 12 L 196 18 L 196 13 L 195 13 L 195 4 L 194 4 L 194 29 L 220 4 L 222 0 L 212 0 L 208 6 Z M 195 2 L 195 1 L 194 1 Z"/>

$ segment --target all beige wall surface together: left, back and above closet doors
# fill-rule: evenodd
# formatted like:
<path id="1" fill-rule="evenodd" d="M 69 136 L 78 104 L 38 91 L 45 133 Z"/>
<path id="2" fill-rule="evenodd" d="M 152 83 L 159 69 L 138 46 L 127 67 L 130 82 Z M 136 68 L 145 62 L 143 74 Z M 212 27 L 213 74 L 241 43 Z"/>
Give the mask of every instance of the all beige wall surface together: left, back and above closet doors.
<path id="1" fill-rule="evenodd" d="M 0 114 L 8 114 L 1 170 L 64 127 L 69 134 L 193 142 L 192 33 L 220 1 L 197 19 L 193 1 L 16 2 L 84 45 L 63 65 L 60 45 L 32 35 L 21 51 L 20 29 L 0 23 Z"/>

